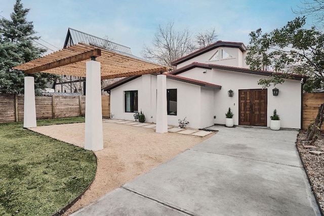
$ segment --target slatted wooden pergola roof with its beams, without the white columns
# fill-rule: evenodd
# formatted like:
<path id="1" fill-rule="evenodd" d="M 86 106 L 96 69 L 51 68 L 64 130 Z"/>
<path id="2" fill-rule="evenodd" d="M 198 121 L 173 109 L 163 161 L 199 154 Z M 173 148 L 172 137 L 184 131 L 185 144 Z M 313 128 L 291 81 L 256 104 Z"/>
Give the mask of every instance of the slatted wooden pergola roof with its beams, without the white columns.
<path id="1" fill-rule="evenodd" d="M 159 73 L 170 69 L 82 43 L 18 65 L 14 69 L 24 70 L 26 74 L 44 72 L 86 77 L 86 61 L 93 57 L 101 63 L 101 79 Z"/>

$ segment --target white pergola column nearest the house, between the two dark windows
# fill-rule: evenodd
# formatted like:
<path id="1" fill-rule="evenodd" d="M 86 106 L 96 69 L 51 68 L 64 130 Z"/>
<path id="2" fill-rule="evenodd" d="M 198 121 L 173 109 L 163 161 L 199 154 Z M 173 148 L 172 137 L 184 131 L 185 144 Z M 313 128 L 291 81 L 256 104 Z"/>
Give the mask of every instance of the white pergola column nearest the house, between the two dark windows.
<path id="1" fill-rule="evenodd" d="M 156 133 L 168 132 L 167 76 L 157 75 Z"/>

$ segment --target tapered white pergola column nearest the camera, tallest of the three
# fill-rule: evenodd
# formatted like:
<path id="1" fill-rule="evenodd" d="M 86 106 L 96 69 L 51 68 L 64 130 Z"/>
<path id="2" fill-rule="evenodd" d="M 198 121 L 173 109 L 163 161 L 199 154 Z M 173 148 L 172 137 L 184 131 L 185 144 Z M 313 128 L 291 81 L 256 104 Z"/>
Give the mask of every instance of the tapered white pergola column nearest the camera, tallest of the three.
<path id="1" fill-rule="evenodd" d="M 103 149 L 100 62 L 87 62 L 85 149 Z"/>

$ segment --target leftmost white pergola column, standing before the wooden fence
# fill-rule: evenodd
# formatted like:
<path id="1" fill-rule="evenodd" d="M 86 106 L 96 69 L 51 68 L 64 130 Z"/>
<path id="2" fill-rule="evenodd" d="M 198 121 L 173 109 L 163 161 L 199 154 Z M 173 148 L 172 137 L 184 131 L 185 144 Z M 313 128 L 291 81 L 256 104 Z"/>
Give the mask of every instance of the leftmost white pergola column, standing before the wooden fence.
<path id="1" fill-rule="evenodd" d="M 36 127 L 36 105 L 34 77 L 24 78 L 24 127 Z"/>

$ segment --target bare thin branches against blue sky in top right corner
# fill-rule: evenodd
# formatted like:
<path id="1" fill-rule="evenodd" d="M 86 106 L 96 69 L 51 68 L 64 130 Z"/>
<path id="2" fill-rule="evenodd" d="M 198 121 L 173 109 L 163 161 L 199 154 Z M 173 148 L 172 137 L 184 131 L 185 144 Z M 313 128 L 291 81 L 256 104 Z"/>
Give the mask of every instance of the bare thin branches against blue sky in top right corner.
<path id="1" fill-rule="evenodd" d="M 314 24 L 318 27 L 324 27 L 324 0 L 303 0 L 303 7 L 299 7 L 299 11 L 294 11 L 296 14 L 310 16 L 314 18 Z"/>

